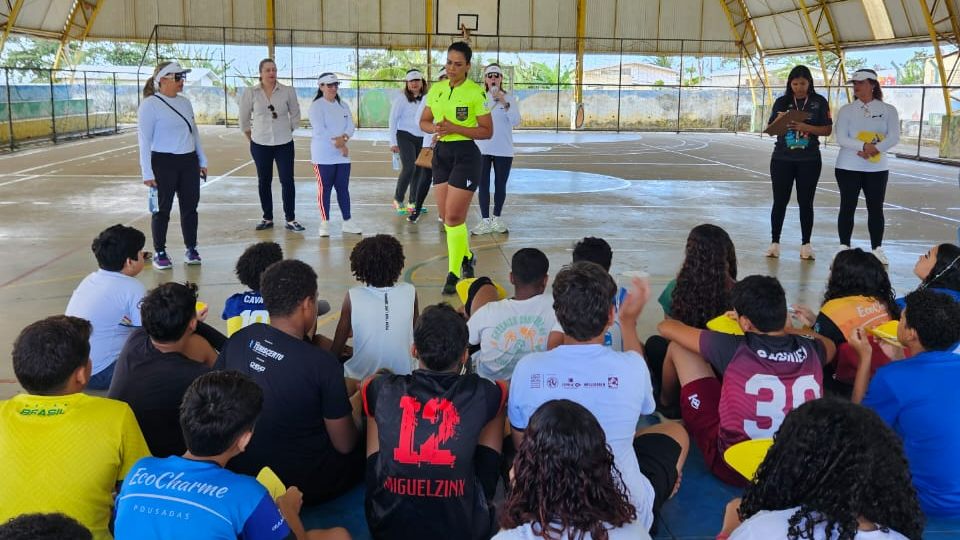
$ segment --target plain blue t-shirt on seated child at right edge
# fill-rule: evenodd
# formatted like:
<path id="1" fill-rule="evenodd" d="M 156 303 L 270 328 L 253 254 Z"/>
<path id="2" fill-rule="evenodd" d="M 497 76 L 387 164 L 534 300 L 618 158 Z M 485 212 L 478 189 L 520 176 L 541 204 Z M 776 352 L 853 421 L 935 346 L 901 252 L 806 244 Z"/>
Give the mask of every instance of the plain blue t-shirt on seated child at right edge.
<path id="1" fill-rule="evenodd" d="M 928 516 L 960 517 L 960 355 L 920 353 L 877 370 L 863 405 L 903 439 L 920 506 Z"/>

